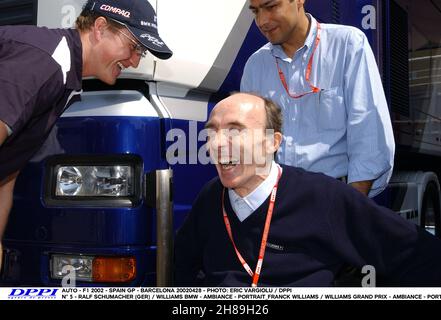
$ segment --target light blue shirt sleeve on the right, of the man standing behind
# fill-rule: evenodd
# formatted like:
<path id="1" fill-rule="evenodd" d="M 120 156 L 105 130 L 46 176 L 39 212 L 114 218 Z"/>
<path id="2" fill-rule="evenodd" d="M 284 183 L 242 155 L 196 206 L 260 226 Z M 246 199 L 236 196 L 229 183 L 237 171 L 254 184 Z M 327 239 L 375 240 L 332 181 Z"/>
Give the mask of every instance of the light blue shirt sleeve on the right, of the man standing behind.
<path id="1" fill-rule="evenodd" d="M 374 180 L 369 197 L 384 190 L 392 175 L 395 142 L 374 54 L 359 30 L 349 33 L 344 91 L 348 114 L 348 182 Z"/>

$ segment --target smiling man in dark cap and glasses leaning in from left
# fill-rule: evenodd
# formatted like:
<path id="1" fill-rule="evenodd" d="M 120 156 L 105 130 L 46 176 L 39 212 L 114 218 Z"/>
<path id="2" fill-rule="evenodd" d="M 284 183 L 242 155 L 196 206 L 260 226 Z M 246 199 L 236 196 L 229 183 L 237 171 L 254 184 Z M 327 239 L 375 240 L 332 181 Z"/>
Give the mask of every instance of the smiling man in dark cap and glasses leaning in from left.
<path id="1" fill-rule="evenodd" d="M 76 29 L 0 27 L 0 241 L 17 175 L 79 99 L 82 77 L 114 84 L 147 51 L 172 55 L 145 0 L 89 0 Z"/>

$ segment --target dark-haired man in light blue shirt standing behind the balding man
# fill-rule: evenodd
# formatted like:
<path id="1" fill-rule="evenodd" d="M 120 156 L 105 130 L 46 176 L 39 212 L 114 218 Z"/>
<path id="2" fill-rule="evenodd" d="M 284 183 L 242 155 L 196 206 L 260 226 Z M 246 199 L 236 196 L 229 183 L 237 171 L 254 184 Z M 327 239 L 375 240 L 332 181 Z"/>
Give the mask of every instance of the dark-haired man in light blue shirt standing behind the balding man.
<path id="1" fill-rule="evenodd" d="M 305 0 L 249 0 L 269 43 L 248 60 L 241 91 L 282 108 L 280 163 L 323 172 L 373 197 L 392 175 L 395 143 L 372 49 L 360 30 L 322 24 Z"/>

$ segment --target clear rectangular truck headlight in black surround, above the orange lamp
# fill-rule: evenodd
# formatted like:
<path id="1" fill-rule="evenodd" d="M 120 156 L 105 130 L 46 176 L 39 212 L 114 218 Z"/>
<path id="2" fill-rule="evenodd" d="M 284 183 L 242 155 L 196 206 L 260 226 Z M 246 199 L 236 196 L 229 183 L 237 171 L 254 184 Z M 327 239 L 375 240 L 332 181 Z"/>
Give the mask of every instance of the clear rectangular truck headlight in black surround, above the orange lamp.
<path id="1" fill-rule="evenodd" d="M 141 198 L 137 156 L 54 156 L 46 170 L 49 206 L 134 206 Z"/>

